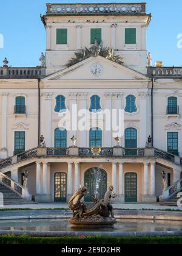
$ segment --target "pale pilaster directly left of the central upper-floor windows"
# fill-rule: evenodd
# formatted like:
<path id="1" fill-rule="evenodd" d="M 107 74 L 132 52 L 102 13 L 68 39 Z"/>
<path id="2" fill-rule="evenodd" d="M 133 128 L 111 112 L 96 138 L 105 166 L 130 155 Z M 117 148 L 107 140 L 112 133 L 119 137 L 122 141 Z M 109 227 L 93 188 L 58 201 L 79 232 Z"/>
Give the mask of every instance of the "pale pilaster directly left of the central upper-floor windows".
<path id="1" fill-rule="evenodd" d="M 87 110 L 87 95 L 88 93 L 79 93 L 78 97 L 79 97 L 79 110 Z M 81 113 L 83 114 L 83 117 L 87 118 L 86 112 L 85 113 Z M 81 127 L 80 127 L 81 128 Z M 78 141 L 77 141 L 77 145 L 79 147 L 87 147 L 87 130 L 86 129 L 82 129 L 79 130 L 78 127 Z"/>

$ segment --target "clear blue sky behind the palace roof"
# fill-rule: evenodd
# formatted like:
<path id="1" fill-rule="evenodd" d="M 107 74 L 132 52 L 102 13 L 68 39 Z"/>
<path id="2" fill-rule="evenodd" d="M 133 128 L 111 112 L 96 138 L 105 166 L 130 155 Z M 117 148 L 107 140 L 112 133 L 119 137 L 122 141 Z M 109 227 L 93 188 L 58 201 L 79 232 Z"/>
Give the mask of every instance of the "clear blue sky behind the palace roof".
<path id="1" fill-rule="evenodd" d="M 40 14 L 49 3 L 76 2 L 140 2 L 136 0 L 69 1 L 69 0 L 0 0 L 0 66 L 7 57 L 11 66 L 37 66 L 41 52 L 45 51 L 45 29 Z M 152 21 L 147 30 L 147 50 L 153 63 L 163 61 L 164 66 L 182 66 L 182 48 L 177 47 L 177 36 L 182 34 L 182 1 L 147 0 L 147 13 Z M 182 44 L 181 44 L 182 46 Z"/>

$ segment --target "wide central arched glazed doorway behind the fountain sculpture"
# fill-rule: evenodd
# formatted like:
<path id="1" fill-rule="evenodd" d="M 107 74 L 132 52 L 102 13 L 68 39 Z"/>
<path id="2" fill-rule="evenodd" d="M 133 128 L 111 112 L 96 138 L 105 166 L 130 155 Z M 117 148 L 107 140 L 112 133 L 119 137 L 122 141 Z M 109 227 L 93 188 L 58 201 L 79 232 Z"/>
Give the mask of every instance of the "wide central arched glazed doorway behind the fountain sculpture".
<path id="1" fill-rule="evenodd" d="M 87 194 L 84 197 L 86 202 L 92 202 L 92 196 L 97 196 L 99 199 L 104 198 L 107 191 L 107 172 L 99 167 L 87 169 L 84 173 L 84 185 L 87 186 Z"/>

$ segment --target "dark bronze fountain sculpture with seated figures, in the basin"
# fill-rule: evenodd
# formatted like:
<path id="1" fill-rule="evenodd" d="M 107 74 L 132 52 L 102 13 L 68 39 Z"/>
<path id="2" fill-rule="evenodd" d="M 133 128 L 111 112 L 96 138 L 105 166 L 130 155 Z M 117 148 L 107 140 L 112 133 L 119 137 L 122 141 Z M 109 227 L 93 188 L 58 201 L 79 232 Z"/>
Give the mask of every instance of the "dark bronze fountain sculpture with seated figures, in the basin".
<path id="1" fill-rule="evenodd" d="M 95 195 L 95 197 L 92 196 L 93 206 L 90 209 L 87 209 L 83 201 L 86 191 L 87 187 L 79 188 L 69 199 L 69 208 L 73 211 L 73 218 L 69 220 L 71 226 L 81 229 L 84 227 L 100 228 L 113 226 L 116 223 L 113 207 L 110 202 L 111 198 L 116 197 L 113 187 L 108 187 L 102 200 L 99 200 L 99 194 Z"/>

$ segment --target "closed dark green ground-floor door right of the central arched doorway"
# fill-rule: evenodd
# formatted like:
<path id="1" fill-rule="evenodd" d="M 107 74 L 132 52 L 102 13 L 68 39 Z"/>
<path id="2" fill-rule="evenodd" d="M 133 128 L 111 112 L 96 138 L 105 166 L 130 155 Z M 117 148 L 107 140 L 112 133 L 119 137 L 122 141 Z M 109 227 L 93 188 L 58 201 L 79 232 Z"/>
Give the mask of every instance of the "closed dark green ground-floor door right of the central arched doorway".
<path id="1" fill-rule="evenodd" d="M 137 174 L 127 172 L 124 179 L 125 202 L 137 202 Z"/>

